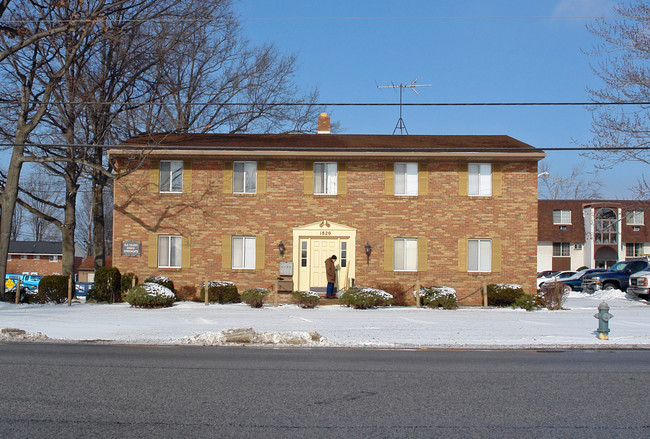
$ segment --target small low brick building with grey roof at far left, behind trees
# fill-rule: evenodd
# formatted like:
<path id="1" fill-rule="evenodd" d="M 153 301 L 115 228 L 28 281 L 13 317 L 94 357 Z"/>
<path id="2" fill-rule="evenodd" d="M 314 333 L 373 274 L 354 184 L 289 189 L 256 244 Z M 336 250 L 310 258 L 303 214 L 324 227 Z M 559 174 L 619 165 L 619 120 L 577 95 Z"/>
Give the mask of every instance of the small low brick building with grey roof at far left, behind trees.
<path id="1" fill-rule="evenodd" d="M 63 244 L 46 241 L 9 241 L 7 273 L 61 274 L 63 270 Z"/>

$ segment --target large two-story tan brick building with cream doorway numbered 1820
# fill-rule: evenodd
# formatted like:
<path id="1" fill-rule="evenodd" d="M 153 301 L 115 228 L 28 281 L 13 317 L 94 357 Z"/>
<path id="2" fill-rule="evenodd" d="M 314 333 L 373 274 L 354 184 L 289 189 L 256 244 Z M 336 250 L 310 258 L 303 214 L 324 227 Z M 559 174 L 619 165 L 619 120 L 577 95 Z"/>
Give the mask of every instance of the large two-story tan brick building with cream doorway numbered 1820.
<path id="1" fill-rule="evenodd" d="M 323 115 L 319 132 L 329 132 Z M 336 254 L 341 289 L 419 281 L 462 299 L 483 281 L 535 288 L 545 154 L 513 138 L 170 134 L 127 143 L 109 152 L 120 171 L 139 164 L 138 145 L 153 149 L 115 184 L 113 265 L 123 273 L 240 290 L 282 275 L 295 290 L 323 291 L 325 259 Z"/>

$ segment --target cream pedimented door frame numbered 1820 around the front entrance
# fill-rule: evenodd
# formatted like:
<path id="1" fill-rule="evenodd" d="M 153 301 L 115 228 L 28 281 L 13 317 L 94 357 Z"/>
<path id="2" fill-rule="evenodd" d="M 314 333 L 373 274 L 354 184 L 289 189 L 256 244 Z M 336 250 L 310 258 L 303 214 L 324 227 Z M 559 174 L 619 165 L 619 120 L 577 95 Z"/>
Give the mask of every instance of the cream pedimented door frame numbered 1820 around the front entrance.
<path id="1" fill-rule="evenodd" d="M 351 284 L 351 279 L 355 278 L 355 260 L 356 260 L 356 240 L 357 230 L 342 224 L 332 223 L 327 220 L 307 224 L 305 226 L 293 229 L 293 260 L 294 266 L 294 285 L 297 290 L 307 291 L 311 287 L 323 288 L 327 285 L 313 285 L 316 276 L 313 273 L 312 242 L 333 240 L 336 245 L 333 247 L 337 250 L 334 254 L 337 260 L 337 289 L 344 288 Z M 342 244 L 345 243 L 345 244 Z M 345 266 L 342 266 L 342 246 L 345 246 Z M 328 255 L 328 257 L 331 255 Z M 325 259 L 322 261 L 313 261 L 314 264 L 325 265 Z M 320 269 L 320 265 L 317 265 Z M 322 282 L 321 282 L 322 283 Z"/>

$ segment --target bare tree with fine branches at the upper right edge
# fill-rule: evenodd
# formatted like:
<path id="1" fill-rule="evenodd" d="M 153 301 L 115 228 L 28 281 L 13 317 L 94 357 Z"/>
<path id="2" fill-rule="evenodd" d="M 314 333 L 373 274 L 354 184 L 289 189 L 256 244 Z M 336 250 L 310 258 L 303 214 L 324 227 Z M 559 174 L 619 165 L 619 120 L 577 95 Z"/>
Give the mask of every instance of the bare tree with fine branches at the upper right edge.
<path id="1" fill-rule="evenodd" d="M 585 155 L 611 167 L 626 161 L 650 164 L 650 5 L 636 0 L 614 6 L 615 18 L 602 18 L 589 25 L 600 43 L 590 52 L 597 62 L 593 71 L 604 82 L 600 89 L 588 89 L 594 102 L 637 103 L 626 106 L 592 108 L 593 138 Z M 616 148 L 609 150 L 606 148 Z M 641 178 L 639 194 L 650 195 L 650 186 Z"/>

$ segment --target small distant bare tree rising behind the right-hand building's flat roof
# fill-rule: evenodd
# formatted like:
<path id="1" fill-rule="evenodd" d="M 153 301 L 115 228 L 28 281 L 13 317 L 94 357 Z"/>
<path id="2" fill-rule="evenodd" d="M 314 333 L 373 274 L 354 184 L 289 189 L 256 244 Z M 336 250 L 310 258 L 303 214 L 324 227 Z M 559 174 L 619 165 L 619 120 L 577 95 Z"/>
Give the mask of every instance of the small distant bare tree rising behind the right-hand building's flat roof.
<path id="1" fill-rule="evenodd" d="M 571 167 L 571 173 L 558 176 L 551 170 L 551 164 L 542 161 L 538 168 L 539 194 L 542 200 L 588 200 L 601 199 L 603 184 L 598 179 L 598 171 L 588 172 L 584 163 Z"/>

